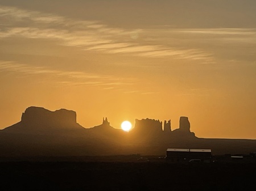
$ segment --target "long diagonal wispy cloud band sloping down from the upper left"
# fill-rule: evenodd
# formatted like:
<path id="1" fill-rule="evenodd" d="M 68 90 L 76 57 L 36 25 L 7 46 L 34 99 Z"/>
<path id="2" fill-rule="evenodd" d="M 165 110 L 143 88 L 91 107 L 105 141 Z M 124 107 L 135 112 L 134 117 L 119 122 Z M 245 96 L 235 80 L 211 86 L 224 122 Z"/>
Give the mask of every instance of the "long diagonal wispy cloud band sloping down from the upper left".
<path id="1" fill-rule="evenodd" d="M 142 29 L 112 28 L 95 20 L 73 20 L 56 14 L 6 6 L 0 6 L 0 17 L 12 20 L 12 26 L 0 27 L 0 38 L 16 36 L 57 40 L 61 45 L 78 46 L 85 51 L 109 54 L 212 60 L 210 53 L 200 49 L 175 48 L 165 44 L 134 41 L 138 38 L 138 33 L 144 32 Z"/>

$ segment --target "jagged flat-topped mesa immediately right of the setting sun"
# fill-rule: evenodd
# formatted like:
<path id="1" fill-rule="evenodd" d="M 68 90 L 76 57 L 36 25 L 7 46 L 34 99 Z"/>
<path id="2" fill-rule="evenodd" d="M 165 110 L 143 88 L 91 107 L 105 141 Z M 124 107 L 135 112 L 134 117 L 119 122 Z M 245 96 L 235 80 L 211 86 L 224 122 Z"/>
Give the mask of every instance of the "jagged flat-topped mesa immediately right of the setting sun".
<path id="1" fill-rule="evenodd" d="M 134 130 L 143 132 L 161 132 L 163 131 L 162 121 L 152 120 L 149 118 L 142 120 L 135 119 Z"/>

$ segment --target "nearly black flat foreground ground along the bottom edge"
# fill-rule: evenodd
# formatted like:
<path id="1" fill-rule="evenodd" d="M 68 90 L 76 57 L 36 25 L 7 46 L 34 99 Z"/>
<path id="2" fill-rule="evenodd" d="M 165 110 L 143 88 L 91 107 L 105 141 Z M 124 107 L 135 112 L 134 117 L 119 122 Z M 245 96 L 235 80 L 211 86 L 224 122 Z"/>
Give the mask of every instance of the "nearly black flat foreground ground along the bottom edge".
<path id="1" fill-rule="evenodd" d="M 0 190 L 256 190 L 256 163 L 0 162 Z"/>

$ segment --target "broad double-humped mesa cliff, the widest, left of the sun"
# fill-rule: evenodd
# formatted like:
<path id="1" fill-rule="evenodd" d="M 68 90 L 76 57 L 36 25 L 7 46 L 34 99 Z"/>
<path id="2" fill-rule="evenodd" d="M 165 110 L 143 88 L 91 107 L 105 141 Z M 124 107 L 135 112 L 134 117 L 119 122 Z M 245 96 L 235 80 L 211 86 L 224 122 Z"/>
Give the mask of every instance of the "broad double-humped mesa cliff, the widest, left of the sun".
<path id="1" fill-rule="evenodd" d="M 51 127 L 72 127 L 76 126 L 76 112 L 67 109 L 60 109 L 51 112 L 40 107 L 29 107 L 22 113 L 23 125 L 26 126 L 51 126 Z"/>

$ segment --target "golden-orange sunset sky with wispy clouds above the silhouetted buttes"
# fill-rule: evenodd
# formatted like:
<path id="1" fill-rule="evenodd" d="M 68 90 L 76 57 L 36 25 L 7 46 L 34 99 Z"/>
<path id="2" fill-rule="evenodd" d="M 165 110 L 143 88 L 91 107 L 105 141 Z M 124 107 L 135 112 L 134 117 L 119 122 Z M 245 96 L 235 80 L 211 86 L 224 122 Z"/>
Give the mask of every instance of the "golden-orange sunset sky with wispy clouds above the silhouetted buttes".
<path id="1" fill-rule="evenodd" d="M 187 116 L 256 139 L 256 1 L 0 0 L 0 129 L 27 107 L 85 128 Z"/>

